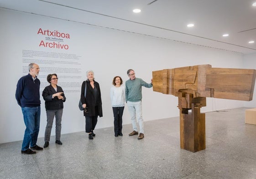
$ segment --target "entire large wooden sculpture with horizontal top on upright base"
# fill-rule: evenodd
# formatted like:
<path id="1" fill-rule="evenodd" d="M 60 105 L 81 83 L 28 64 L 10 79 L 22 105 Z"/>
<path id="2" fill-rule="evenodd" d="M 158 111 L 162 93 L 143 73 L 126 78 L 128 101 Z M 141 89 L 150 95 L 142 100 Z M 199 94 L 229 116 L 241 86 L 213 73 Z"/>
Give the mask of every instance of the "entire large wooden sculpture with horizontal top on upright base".
<path id="1" fill-rule="evenodd" d="M 198 152 L 205 149 L 206 97 L 251 101 L 256 70 L 186 66 L 152 72 L 153 91 L 178 97 L 180 147 Z M 188 110 L 191 110 L 189 113 Z"/>

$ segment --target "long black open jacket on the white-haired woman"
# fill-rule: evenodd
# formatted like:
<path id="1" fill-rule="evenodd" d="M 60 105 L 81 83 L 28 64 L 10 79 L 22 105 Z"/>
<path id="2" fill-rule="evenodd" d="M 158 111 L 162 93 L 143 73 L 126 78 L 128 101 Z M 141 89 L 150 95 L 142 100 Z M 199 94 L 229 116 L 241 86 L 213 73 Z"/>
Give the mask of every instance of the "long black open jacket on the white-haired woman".
<path id="1" fill-rule="evenodd" d="M 84 88 L 86 86 L 86 96 L 84 97 Z M 96 87 L 98 95 L 95 99 L 94 97 L 94 89 L 90 85 L 90 81 L 86 80 L 83 82 L 82 87 L 81 87 L 81 102 L 82 104 L 86 104 L 87 111 L 88 113 L 84 112 L 84 116 L 99 116 L 102 117 L 102 102 L 101 102 L 101 93 L 100 93 L 100 88 L 99 88 L 99 83 L 94 81 L 94 87 Z M 95 106 L 97 106 L 95 110 Z"/>

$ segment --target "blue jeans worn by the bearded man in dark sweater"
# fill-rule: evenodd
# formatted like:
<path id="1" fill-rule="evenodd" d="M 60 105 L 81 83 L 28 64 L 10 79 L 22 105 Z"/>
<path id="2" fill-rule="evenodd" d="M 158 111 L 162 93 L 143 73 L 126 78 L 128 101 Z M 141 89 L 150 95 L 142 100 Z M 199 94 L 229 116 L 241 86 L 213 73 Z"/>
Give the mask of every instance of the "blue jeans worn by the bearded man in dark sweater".
<path id="1" fill-rule="evenodd" d="M 40 113 L 39 107 L 21 107 L 26 130 L 24 133 L 21 150 L 26 150 L 37 145 L 37 136 L 40 128 Z"/>

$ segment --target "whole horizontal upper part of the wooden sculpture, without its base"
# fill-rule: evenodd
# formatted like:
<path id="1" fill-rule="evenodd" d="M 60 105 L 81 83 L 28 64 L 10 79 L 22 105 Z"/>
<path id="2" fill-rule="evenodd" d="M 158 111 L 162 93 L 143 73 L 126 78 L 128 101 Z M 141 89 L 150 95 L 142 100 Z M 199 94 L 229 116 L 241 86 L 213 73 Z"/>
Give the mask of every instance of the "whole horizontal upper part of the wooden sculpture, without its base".
<path id="1" fill-rule="evenodd" d="M 153 91 L 172 94 L 190 90 L 194 97 L 215 97 L 251 101 L 256 70 L 186 66 L 152 72 Z"/>

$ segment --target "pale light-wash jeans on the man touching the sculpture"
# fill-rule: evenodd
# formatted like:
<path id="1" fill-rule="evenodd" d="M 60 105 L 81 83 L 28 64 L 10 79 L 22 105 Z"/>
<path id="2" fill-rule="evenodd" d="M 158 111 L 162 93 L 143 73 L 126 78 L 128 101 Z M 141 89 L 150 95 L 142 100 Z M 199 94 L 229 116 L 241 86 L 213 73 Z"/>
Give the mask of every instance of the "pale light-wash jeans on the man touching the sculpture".
<path id="1" fill-rule="evenodd" d="M 142 102 L 127 101 L 128 111 L 131 115 L 131 124 L 134 131 L 138 131 L 136 119 L 140 126 L 140 133 L 144 133 L 144 124 L 142 119 Z"/>

